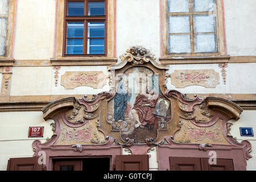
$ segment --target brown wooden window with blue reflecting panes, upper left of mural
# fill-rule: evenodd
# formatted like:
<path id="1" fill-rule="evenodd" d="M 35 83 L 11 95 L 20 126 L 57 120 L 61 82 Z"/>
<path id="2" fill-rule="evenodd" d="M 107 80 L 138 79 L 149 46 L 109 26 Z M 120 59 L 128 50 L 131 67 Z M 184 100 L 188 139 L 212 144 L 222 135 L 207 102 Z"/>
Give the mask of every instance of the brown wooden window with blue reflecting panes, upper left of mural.
<path id="1" fill-rule="evenodd" d="M 64 56 L 106 56 L 106 1 L 65 2 Z"/>

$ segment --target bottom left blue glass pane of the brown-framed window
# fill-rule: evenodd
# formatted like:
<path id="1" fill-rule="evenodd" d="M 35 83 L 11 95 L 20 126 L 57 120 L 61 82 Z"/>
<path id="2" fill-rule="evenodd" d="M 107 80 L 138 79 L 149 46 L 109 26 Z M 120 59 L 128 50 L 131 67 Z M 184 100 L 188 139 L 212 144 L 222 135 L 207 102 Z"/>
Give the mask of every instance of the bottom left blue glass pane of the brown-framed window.
<path id="1" fill-rule="evenodd" d="M 82 54 L 82 39 L 67 39 L 67 54 Z"/>

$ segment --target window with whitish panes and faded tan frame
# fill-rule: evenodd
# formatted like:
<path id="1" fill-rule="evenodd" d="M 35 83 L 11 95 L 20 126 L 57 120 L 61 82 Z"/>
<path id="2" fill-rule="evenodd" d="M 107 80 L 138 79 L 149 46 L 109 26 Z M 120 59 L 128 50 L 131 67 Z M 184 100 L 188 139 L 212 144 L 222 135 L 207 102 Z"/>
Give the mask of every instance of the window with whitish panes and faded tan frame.
<path id="1" fill-rule="evenodd" d="M 164 55 L 221 54 L 218 4 L 218 0 L 166 0 Z"/>

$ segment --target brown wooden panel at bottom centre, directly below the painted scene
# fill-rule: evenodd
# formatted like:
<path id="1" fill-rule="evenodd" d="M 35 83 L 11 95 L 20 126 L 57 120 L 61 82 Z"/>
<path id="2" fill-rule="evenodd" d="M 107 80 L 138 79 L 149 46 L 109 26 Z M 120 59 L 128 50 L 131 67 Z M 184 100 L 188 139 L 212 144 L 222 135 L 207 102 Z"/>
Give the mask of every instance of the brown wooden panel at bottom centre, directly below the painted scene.
<path id="1" fill-rule="evenodd" d="M 115 170 L 117 171 L 148 171 L 148 155 L 117 155 Z"/>

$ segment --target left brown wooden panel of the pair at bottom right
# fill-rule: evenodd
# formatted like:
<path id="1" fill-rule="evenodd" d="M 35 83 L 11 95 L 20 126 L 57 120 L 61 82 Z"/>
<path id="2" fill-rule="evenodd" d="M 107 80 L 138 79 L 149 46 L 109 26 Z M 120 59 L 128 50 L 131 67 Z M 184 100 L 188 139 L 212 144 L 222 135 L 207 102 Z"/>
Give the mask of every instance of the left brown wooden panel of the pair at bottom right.
<path id="1" fill-rule="evenodd" d="M 170 169 L 172 171 L 201 171 L 200 158 L 170 157 Z"/>

